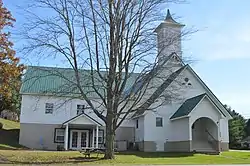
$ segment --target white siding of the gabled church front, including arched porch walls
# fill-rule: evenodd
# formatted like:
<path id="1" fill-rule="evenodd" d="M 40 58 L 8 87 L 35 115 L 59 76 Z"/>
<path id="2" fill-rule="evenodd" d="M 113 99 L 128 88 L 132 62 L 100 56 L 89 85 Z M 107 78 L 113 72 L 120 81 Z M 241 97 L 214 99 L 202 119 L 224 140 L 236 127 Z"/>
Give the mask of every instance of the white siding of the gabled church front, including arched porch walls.
<path id="1" fill-rule="evenodd" d="M 189 79 L 191 86 L 182 85 L 182 81 L 185 78 Z M 181 86 L 181 87 L 180 87 Z M 168 93 L 172 89 L 179 89 L 180 96 L 170 104 L 158 107 L 154 112 L 149 111 L 144 116 L 144 140 L 155 141 L 157 144 L 157 150 L 161 151 L 162 146 L 166 141 L 187 141 L 191 140 L 191 126 L 195 120 L 200 117 L 208 117 L 215 123 L 220 121 L 220 118 L 224 118 L 221 123 L 225 124 L 220 126 L 219 131 L 222 135 L 222 140 L 228 140 L 228 123 L 225 117 L 222 117 L 217 108 L 205 98 L 198 107 L 192 111 L 190 118 L 179 119 L 170 121 L 170 117 L 176 112 L 180 105 L 188 98 L 208 93 L 206 89 L 200 84 L 200 82 L 193 76 L 189 70 L 185 70 L 181 76 L 173 82 L 170 87 L 165 91 Z M 156 103 L 155 103 L 156 105 Z M 153 107 L 153 106 L 152 106 Z M 163 127 L 159 128 L 155 125 L 156 117 L 163 117 Z M 225 141 L 224 141 L 225 142 Z M 163 146 L 164 147 L 164 146 Z"/>

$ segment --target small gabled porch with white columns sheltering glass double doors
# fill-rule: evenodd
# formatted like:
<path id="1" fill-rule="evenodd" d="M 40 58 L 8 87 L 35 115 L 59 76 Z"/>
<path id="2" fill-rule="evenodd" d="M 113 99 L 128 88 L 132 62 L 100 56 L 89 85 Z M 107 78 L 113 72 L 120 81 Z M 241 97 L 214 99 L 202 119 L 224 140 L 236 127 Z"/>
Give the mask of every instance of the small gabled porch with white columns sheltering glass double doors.
<path id="1" fill-rule="evenodd" d="M 104 145 L 104 128 L 101 123 L 85 113 L 63 123 L 64 149 L 83 150 Z"/>

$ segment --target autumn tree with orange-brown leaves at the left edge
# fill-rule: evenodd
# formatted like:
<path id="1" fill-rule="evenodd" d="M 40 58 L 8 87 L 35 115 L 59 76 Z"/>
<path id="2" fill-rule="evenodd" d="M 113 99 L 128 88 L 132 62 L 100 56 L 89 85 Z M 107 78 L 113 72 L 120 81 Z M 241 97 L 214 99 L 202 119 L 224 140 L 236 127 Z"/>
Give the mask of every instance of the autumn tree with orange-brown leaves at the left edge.
<path id="1" fill-rule="evenodd" d="M 24 69 L 15 56 L 13 43 L 9 40 L 10 32 L 6 31 L 6 28 L 13 27 L 13 22 L 15 19 L 0 0 L 0 109 L 11 109 L 13 106 L 13 99 L 17 96 L 14 97 L 13 93 L 19 91 L 20 76 Z"/>

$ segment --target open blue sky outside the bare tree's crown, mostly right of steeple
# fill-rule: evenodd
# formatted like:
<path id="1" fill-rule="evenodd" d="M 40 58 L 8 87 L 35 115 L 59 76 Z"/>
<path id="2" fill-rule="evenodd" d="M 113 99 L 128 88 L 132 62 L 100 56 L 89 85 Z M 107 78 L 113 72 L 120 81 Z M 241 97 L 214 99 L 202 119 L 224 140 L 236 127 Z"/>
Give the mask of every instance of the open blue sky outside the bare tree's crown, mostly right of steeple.
<path id="1" fill-rule="evenodd" d="M 17 5 L 23 5 L 25 0 L 3 2 L 17 19 L 15 28 L 19 28 L 24 20 Z M 189 0 L 168 5 L 179 22 L 198 30 L 183 41 L 184 56 L 197 60 L 192 67 L 222 103 L 247 118 L 250 118 L 249 6 L 248 0 Z M 40 64 L 51 63 L 44 60 Z"/>

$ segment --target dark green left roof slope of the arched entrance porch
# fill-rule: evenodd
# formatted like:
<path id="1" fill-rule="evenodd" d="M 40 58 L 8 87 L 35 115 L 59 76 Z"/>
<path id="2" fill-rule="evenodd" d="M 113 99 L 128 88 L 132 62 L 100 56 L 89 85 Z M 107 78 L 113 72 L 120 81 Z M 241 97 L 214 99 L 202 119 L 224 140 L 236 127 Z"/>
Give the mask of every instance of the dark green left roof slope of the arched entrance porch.
<path id="1" fill-rule="evenodd" d="M 170 117 L 170 119 L 180 118 L 183 116 L 187 116 L 194 107 L 203 99 L 203 97 L 206 96 L 206 94 L 201 94 L 198 96 L 195 96 L 193 98 L 187 99 L 180 108 Z"/>

